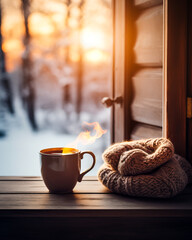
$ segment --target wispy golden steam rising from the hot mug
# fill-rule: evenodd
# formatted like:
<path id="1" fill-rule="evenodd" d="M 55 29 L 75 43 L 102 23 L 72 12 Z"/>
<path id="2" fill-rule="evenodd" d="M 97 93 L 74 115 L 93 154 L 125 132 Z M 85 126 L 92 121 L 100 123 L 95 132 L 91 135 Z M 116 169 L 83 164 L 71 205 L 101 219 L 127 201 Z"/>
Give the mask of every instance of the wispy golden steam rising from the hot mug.
<path id="1" fill-rule="evenodd" d="M 98 138 L 102 137 L 103 134 L 107 132 L 107 130 L 103 130 L 98 122 L 88 123 L 84 122 L 90 130 L 86 130 L 81 132 L 76 140 L 67 145 L 67 147 L 77 147 L 79 144 L 81 145 L 91 145 L 93 144 Z M 65 149 L 63 149 L 63 153 L 65 153 Z"/>

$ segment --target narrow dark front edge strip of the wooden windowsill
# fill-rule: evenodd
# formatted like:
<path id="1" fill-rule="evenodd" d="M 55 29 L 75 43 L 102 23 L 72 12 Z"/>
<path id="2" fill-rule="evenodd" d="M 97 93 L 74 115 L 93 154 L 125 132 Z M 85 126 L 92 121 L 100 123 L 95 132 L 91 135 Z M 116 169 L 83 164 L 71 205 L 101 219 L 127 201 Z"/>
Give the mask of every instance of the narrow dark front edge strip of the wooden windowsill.
<path id="1" fill-rule="evenodd" d="M 0 209 L 0 221 L 5 218 L 160 218 L 192 217 L 190 209 Z"/>

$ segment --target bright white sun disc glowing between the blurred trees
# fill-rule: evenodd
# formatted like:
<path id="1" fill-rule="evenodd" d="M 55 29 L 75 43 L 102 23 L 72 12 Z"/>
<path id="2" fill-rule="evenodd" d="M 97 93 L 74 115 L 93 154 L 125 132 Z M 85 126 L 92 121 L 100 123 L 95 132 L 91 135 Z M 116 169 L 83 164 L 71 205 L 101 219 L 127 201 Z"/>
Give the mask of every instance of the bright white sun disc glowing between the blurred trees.
<path id="1" fill-rule="evenodd" d="M 81 43 L 85 49 L 103 49 L 105 47 L 104 33 L 96 29 L 85 28 L 82 30 Z"/>

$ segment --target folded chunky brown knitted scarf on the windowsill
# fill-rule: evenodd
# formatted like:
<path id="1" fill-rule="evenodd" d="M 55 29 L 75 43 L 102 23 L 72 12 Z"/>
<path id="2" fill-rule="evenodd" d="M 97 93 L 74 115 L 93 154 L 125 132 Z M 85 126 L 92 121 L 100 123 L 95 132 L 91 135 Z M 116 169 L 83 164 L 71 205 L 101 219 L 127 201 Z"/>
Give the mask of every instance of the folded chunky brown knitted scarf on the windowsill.
<path id="1" fill-rule="evenodd" d="M 115 193 L 169 198 L 192 182 L 192 166 L 165 138 L 113 144 L 103 160 L 98 179 Z"/>

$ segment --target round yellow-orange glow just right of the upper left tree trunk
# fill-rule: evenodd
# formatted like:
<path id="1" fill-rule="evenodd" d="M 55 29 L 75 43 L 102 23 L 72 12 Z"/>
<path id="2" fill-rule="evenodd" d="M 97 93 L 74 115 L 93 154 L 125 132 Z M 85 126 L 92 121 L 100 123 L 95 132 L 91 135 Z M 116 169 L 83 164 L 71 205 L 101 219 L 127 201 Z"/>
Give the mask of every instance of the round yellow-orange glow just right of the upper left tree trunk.
<path id="1" fill-rule="evenodd" d="M 32 35 L 50 35 L 54 33 L 54 26 L 48 16 L 32 13 L 29 16 L 29 28 Z"/>

